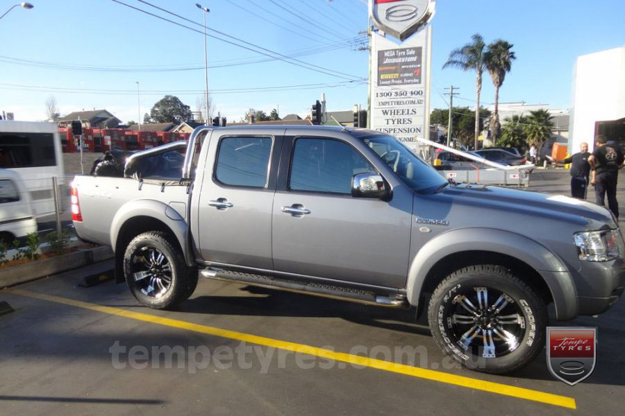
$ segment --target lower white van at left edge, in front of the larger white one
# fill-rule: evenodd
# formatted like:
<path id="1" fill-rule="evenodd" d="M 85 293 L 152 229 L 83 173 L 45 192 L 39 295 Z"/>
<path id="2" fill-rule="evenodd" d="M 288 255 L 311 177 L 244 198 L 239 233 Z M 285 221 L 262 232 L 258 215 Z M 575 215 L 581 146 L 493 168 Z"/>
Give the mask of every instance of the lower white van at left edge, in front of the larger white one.
<path id="1" fill-rule="evenodd" d="M 13 240 L 37 232 L 31 195 L 18 173 L 0 168 L 0 241 Z"/>

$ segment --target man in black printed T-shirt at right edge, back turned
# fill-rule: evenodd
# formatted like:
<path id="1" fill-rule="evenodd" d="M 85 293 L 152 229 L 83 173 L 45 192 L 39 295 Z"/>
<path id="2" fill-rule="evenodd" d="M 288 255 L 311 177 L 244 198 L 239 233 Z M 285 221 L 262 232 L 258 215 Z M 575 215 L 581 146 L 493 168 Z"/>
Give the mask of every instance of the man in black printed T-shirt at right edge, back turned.
<path id="1" fill-rule="evenodd" d="M 605 136 L 594 138 L 594 152 L 588 157 L 588 163 L 594 168 L 594 190 L 597 194 L 597 205 L 605 206 L 604 198 L 608 193 L 608 207 L 612 214 L 619 218 L 619 202 L 616 199 L 616 185 L 619 169 L 623 167 L 625 157 L 619 146 L 608 144 Z"/>

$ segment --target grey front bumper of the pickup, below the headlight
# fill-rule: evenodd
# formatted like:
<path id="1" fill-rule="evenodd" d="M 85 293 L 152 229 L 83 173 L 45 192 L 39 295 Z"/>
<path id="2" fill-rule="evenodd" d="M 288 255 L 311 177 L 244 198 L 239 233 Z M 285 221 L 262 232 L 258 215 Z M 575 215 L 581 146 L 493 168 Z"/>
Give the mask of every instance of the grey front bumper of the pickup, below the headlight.
<path id="1" fill-rule="evenodd" d="M 578 315 L 597 315 L 610 309 L 625 288 L 625 259 L 580 261 L 572 273 L 577 289 Z"/>

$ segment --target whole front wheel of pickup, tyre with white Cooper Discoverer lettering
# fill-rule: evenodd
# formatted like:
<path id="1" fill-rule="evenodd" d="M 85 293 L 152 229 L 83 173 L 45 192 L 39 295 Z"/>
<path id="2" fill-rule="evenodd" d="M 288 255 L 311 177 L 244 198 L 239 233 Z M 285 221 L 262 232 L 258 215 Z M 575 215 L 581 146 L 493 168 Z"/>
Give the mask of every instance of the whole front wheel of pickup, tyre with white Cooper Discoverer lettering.
<path id="1" fill-rule="evenodd" d="M 547 306 L 533 288 L 493 265 L 451 273 L 428 306 L 430 329 L 443 352 L 471 370 L 491 374 L 533 361 L 544 347 L 548 319 Z"/>

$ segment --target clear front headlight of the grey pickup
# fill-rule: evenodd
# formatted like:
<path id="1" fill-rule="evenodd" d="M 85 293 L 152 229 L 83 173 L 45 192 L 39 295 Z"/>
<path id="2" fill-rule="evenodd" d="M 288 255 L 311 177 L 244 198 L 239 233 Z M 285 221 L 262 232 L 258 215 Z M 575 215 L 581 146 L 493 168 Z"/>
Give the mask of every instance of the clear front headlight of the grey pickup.
<path id="1" fill-rule="evenodd" d="M 580 260 L 609 261 L 619 257 L 622 237 L 618 229 L 578 232 L 573 237 Z"/>

